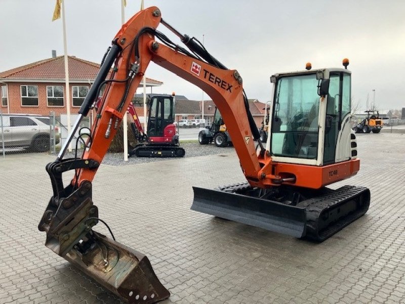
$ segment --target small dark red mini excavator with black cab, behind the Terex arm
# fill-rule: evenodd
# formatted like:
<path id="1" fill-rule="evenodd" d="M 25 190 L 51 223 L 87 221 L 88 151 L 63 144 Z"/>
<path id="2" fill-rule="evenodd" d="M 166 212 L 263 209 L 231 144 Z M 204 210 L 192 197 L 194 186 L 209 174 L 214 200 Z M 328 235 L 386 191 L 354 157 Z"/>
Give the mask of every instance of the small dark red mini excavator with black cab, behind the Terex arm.
<path id="1" fill-rule="evenodd" d="M 180 147 L 176 132 L 175 100 L 173 96 L 150 95 L 147 113 L 147 132 L 145 133 L 132 102 L 128 105 L 131 129 L 138 143 L 129 151 L 137 157 L 183 157 L 185 150 Z"/>

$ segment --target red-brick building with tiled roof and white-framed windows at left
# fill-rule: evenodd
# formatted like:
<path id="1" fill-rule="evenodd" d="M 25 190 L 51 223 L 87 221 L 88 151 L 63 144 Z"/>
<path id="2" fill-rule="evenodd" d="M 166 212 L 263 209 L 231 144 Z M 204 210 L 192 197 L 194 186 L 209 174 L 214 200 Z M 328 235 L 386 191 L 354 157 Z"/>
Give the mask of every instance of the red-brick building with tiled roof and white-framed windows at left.
<path id="1" fill-rule="evenodd" d="M 100 65 L 68 56 L 70 112 L 77 113 Z M 146 78 L 146 86 L 163 83 Z M 140 84 L 140 87 L 143 83 Z M 56 115 L 66 113 L 66 86 L 64 56 L 56 55 L 27 65 L 0 72 L 1 109 L 4 113 Z"/>

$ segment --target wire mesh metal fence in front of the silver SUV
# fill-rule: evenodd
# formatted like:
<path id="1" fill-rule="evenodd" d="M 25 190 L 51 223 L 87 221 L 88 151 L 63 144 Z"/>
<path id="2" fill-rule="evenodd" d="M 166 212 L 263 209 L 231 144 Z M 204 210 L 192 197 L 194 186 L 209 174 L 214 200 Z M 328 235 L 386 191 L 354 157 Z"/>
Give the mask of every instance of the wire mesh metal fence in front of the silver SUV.
<path id="1" fill-rule="evenodd" d="M 22 153 L 58 153 L 61 143 L 67 138 L 66 115 L 49 116 L 8 114 L 0 110 L 0 155 Z M 90 127 L 87 118 L 82 123 Z M 75 145 L 73 138 L 73 147 Z"/>

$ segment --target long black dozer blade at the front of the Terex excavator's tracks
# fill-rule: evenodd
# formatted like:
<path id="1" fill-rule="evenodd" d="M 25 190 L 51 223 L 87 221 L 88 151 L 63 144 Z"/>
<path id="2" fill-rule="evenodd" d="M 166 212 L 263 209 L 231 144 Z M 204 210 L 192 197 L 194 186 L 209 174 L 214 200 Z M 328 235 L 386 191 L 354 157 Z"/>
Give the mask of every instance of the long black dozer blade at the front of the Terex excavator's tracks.
<path id="1" fill-rule="evenodd" d="M 306 233 L 305 208 L 212 189 L 193 190 L 191 210 L 297 238 Z"/>

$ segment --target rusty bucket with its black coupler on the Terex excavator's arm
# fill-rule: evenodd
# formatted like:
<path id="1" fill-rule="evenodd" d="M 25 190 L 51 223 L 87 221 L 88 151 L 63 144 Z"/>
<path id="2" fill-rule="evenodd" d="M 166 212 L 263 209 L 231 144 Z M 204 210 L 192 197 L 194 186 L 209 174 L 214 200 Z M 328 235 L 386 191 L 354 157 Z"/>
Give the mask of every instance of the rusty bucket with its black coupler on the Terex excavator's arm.
<path id="1" fill-rule="evenodd" d="M 75 163 L 51 163 L 47 169 L 59 174 L 52 175 L 52 180 L 60 180 L 60 171 Z M 155 303 L 170 296 L 144 254 L 91 229 L 102 221 L 91 199 L 91 182 L 84 181 L 77 189 L 69 185 L 59 192 L 62 199 L 51 198 L 38 225 L 47 233 L 48 248 L 128 303 Z"/>

